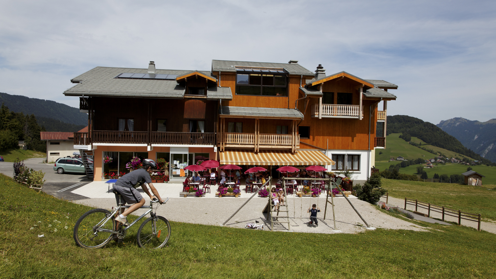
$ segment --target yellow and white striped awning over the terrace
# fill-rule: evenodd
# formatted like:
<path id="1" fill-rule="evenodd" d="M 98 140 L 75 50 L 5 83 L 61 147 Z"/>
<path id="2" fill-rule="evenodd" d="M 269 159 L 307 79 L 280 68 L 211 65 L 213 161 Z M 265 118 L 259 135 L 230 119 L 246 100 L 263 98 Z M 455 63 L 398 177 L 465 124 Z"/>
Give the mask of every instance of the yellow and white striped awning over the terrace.
<path id="1" fill-rule="evenodd" d="M 220 152 L 220 164 L 233 165 L 334 165 L 335 162 L 316 150 L 226 150 Z"/>

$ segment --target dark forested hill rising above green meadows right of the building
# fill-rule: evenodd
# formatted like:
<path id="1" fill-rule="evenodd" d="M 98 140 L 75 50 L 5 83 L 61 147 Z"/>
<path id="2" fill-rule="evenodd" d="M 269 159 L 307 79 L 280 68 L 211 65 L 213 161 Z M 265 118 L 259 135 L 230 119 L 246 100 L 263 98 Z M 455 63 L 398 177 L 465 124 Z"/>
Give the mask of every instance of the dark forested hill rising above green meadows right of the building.
<path id="1" fill-rule="evenodd" d="M 388 135 L 402 133 L 402 138 L 406 141 L 410 141 L 409 137 L 417 137 L 434 146 L 475 158 L 485 164 L 492 164 L 490 160 L 463 146 L 458 139 L 442 131 L 439 127 L 415 117 L 407 115 L 388 116 L 386 132 Z"/>

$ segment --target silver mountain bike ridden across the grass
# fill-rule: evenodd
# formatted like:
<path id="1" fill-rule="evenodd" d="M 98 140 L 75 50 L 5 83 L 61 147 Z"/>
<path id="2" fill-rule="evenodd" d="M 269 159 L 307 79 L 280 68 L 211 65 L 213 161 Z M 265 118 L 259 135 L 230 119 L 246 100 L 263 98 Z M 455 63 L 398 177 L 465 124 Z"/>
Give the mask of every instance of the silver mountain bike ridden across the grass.
<path id="1" fill-rule="evenodd" d="M 138 228 L 136 239 L 138 246 L 141 248 L 158 249 L 163 247 L 171 236 L 171 225 L 169 221 L 157 216 L 156 211 L 159 207 L 159 201 L 153 199 L 150 206 L 143 206 L 141 209 L 146 210 L 143 215 L 139 216 L 129 226 L 124 227 L 114 218 L 120 209 L 126 209 L 130 206 L 125 206 L 121 195 L 114 190 L 114 193 L 119 195 L 121 201 L 117 208 L 110 212 L 107 209 L 92 209 L 84 213 L 74 225 L 73 237 L 76 245 L 83 248 L 100 248 L 109 243 L 112 239 L 122 240 L 126 231 L 132 227 L 137 221 L 150 213 L 150 217 L 143 221 Z M 163 203 L 167 203 L 169 198 Z M 156 207 L 154 208 L 154 206 Z M 119 224 L 119 229 L 116 230 L 116 224 Z"/>

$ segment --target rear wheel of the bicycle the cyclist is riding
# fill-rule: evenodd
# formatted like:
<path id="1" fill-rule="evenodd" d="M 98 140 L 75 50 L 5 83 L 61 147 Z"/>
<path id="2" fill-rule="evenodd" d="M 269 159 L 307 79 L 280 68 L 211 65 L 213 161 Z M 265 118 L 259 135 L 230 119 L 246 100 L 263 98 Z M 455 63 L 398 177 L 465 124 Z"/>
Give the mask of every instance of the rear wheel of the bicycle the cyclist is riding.
<path id="1" fill-rule="evenodd" d="M 100 248 L 105 246 L 114 234 L 97 231 L 98 229 L 115 230 L 115 220 L 111 218 L 105 224 L 100 224 L 110 214 L 106 209 L 93 209 L 84 213 L 74 225 L 73 237 L 77 246 L 83 248 Z"/>

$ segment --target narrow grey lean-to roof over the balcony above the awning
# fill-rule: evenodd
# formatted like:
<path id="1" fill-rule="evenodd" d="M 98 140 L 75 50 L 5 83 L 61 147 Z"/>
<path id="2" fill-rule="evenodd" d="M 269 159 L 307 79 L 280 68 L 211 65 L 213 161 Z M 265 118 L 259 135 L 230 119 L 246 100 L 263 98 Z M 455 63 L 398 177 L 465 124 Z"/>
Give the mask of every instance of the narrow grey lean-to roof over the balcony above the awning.
<path id="1" fill-rule="evenodd" d="M 274 117 L 274 118 L 302 118 L 303 114 L 297 109 L 280 108 L 251 108 L 251 107 L 222 107 L 223 115 Z"/>

